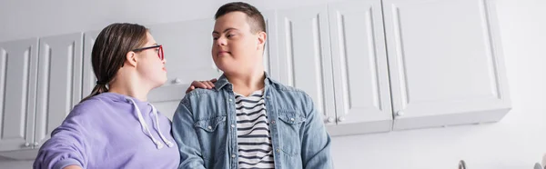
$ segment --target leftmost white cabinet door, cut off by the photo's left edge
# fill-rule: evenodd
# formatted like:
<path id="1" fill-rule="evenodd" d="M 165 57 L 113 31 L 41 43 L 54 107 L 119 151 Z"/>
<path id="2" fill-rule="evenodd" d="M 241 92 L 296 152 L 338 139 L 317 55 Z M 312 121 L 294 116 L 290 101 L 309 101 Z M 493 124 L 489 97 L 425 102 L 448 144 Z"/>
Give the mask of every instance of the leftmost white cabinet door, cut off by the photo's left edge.
<path id="1" fill-rule="evenodd" d="M 38 39 L 0 43 L 0 151 L 32 148 Z"/>

